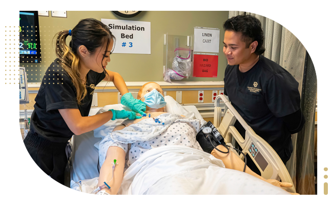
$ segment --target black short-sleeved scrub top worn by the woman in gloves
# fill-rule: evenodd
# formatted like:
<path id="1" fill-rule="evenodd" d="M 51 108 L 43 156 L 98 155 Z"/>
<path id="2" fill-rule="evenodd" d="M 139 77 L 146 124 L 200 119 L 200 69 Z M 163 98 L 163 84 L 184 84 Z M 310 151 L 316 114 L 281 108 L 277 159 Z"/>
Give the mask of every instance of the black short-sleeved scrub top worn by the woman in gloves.
<path id="1" fill-rule="evenodd" d="M 76 89 L 68 73 L 55 59 L 46 71 L 31 115 L 30 131 L 53 142 L 67 142 L 74 134 L 67 126 L 58 109 L 79 109 L 82 116 L 88 116 L 95 86 L 105 78 L 105 73 L 90 70 L 87 74 L 87 95 L 76 101 Z"/>

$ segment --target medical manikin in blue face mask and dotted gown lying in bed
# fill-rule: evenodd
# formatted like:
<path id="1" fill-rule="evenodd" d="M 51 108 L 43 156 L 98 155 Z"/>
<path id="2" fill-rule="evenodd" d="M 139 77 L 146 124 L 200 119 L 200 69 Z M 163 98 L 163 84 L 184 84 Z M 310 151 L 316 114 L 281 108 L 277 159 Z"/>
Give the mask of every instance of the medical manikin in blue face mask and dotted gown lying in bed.
<path id="1" fill-rule="evenodd" d="M 144 84 L 140 88 L 137 98 L 141 99 L 147 105 L 147 111 L 145 112 L 147 115 L 142 116 L 140 119 L 125 120 L 121 125 L 114 128 L 111 137 L 104 138 L 100 143 L 99 160 L 102 166 L 98 179 L 98 187 L 100 188 L 96 190 L 96 192 L 98 191 L 98 195 L 117 194 L 122 183 L 124 168 L 127 169 L 130 167 L 144 152 L 162 146 L 182 145 L 200 150 L 200 152 L 203 150 L 212 154 L 215 158 L 222 160 L 225 168 L 238 170 L 240 172 L 243 171 L 244 162 L 236 154 L 233 152 L 228 152 L 227 154 L 221 153 L 217 151 L 214 146 L 222 152 L 227 152 L 224 146 L 217 144 L 212 146 L 209 140 L 197 135 L 200 128 L 206 124 L 204 120 L 195 119 L 195 121 L 189 121 L 190 119 L 185 116 L 165 112 L 166 103 L 164 101 L 163 91 L 158 84 L 153 82 Z M 146 120 L 149 123 L 144 123 L 143 125 L 141 122 L 140 124 L 142 125 L 140 126 L 145 127 L 138 127 L 139 124 L 137 123 L 142 120 Z M 160 132 L 160 134 L 152 138 L 150 137 L 149 131 L 152 129 L 150 126 L 153 124 L 158 124 L 158 127 L 153 129 L 155 129 L 155 132 Z M 132 133 L 130 133 L 130 135 L 129 131 L 125 130 L 130 130 L 133 133 L 137 133 L 137 135 L 133 137 Z M 122 135 L 118 135 L 117 133 L 123 133 L 123 136 L 126 137 L 122 137 Z M 140 137 L 141 140 L 137 140 L 138 137 Z M 200 147 L 196 143 L 197 141 Z M 105 154 L 103 154 L 103 152 L 105 152 Z M 276 187 L 292 187 L 290 183 L 279 182 L 274 179 L 264 179 L 247 167 L 245 173 L 264 180 Z M 283 190 L 283 192 L 287 194 L 286 191 Z"/>

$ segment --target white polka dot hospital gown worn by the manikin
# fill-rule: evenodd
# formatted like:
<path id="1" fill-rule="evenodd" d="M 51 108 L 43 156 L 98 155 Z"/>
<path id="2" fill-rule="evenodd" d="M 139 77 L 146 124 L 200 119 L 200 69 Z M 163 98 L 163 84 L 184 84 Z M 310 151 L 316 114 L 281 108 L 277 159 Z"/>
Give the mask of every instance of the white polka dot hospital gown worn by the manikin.
<path id="1" fill-rule="evenodd" d="M 161 119 L 162 115 L 160 115 Z M 154 123 L 152 124 L 152 122 L 149 122 L 148 119 L 145 119 L 145 121 L 142 120 L 137 124 L 131 124 L 130 126 L 124 128 L 121 131 L 124 134 L 119 135 L 120 132 L 114 134 L 120 140 L 133 140 L 133 138 L 135 138 L 135 141 L 132 143 L 131 141 L 116 141 L 110 136 L 113 133 L 109 133 L 109 136 L 106 136 L 99 144 L 100 166 L 104 163 L 107 151 L 110 147 L 119 147 L 126 152 L 125 170 L 130 167 L 143 153 L 153 148 L 168 145 L 181 145 L 202 150 L 196 140 L 196 135 L 206 121 L 183 118 L 170 113 L 165 113 L 164 116 L 169 116 L 169 118 L 162 119 L 162 121 L 165 122 L 165 127 L 155 125 Z M 126 125 L 126 123 L 124 125 Z M 132 139 L 130 139 L 131 137 Z"/>

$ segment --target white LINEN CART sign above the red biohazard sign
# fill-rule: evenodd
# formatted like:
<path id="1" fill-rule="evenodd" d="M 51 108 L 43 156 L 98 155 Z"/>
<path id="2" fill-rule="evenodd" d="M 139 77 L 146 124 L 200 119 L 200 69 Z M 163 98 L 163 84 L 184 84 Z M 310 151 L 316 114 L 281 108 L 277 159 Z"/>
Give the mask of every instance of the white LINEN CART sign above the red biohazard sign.
<path id="1" fill-rule="evenodd" d="M 220 48 L 220 30 L 194 29 L 194 52 L 218 53 Z"/>

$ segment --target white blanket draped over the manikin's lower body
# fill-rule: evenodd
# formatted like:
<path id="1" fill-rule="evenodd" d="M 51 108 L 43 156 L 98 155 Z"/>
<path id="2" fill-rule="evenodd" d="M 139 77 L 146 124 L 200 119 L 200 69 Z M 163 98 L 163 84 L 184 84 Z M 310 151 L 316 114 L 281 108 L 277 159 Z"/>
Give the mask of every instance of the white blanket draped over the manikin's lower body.
<path id="1" fill-rule="evenodd" d="M 82 180 L 80 192 L 97 187 L 98 177 Z M 74 181 L 71 182 L 74 185 Z M 72 193 L 79 193 L 73 186 Z M 288 194 L 249 174 L 226 169 L 213 155 L 185 146 L 145 152 L 123 175 L 118 194 Z"/>

